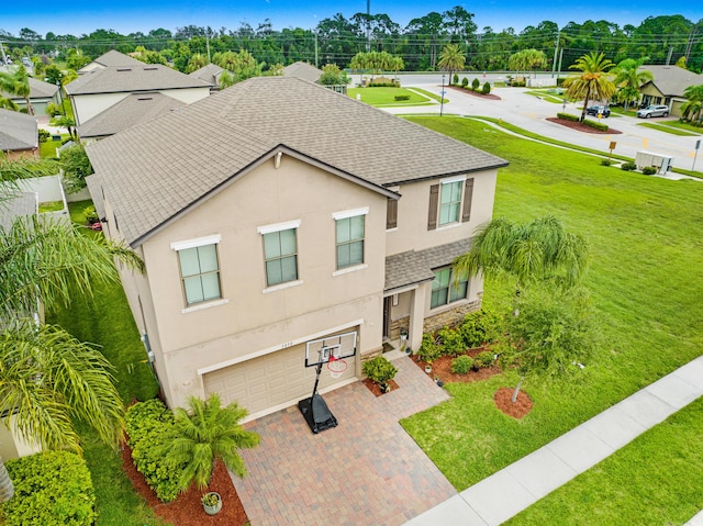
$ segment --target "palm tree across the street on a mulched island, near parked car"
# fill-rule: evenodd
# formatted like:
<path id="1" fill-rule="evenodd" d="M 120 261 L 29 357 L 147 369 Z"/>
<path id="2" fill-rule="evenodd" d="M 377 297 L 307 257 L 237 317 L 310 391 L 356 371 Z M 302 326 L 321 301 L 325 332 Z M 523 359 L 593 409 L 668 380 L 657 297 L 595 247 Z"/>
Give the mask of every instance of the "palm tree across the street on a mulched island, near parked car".
<path id="1" fill-rule="evenodd" d="M 567 78 L 563 86 L 567 96 L 572 99 L 583 99 L 583 111 L 580 121 L 585 119 L 585 109 L 591 99 L 606 101 L 615 93 L 615 85 L 609 79 L 610 69 L 615 66 L 603 53 L 593 52 L 578 58 L 569 69 L 581 72 Z"/>

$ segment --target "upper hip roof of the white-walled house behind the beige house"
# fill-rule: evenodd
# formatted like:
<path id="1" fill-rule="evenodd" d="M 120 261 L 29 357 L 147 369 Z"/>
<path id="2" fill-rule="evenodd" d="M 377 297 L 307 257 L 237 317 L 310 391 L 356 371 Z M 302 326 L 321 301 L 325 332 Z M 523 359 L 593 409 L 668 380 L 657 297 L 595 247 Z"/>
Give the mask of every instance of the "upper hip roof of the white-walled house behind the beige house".
<path id="1" fill-rule="evenodd" d="M 97 68 L 66 86 L 68 94 L 124 93 L 180 88 L 210 88 L 208 82 L 189 77 L 161 64 Z"/>

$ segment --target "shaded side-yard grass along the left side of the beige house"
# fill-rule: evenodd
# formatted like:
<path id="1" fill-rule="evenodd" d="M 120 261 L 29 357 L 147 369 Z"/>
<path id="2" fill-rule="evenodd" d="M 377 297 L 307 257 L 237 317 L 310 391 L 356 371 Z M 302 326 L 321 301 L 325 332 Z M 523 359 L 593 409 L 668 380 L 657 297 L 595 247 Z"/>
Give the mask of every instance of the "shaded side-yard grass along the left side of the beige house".
<path id="1" fill-rule="evenodd" d="M 90 201 L 69 204 L 70 217 L 83 224 Z M 90 236 L 101 233 L 86 230 Z M 101 346 L 115 367 L 116 387 L 126 403 L 156 395 L 157 383 L 120 282 L 98 284 L 93 298 L 76 298 L 68 309 L 47 314 L 47 322 L 63 326 L 77 338 Z M 88 469 L 96 486 L 98 526 L 159 525 L 122 470 L 119 454 L 102 444 L 89 428 L 80 428 Z"/>

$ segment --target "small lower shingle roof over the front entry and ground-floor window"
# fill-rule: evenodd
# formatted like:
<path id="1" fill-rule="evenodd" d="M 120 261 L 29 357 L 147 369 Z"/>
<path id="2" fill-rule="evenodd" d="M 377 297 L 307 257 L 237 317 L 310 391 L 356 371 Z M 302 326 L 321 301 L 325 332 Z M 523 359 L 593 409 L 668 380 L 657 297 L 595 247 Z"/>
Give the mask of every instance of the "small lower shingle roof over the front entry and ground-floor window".
<path id="1" fill-rule="evenodd" d="M 424 250 L 409 250 L 386 258 L 386 292 L 432 281 L 433 269 L 446 267 L 471 248 L 471 238 L 459 239 Z"/>

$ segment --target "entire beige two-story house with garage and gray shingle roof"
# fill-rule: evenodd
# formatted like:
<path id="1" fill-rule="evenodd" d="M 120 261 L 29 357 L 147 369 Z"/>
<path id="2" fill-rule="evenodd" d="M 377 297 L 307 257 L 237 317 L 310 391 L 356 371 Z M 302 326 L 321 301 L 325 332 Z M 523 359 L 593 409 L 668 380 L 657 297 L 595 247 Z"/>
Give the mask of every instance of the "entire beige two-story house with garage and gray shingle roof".
<path id="1" fill-rule="evenodd" d="M 480 306 L 449 266 L 507 163 L 334 91 L 254 78 L 87 152 L 103 232 L 146 264 L 122 279 L 171 406 L 219 392 L 254 418 L 310 396 L 312 340 L 356 344 L 328 390 Z"/>

